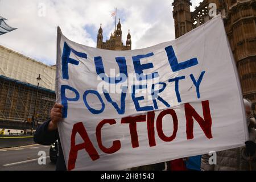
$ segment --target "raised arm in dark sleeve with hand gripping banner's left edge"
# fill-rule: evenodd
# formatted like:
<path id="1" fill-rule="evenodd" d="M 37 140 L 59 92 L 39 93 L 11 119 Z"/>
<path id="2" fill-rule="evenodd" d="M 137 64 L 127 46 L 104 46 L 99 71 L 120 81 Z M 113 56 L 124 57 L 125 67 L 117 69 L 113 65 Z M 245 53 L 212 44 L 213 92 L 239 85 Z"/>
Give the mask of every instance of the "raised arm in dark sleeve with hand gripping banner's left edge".
<path id="1" fill-rule="evenodd" d="M 51 119 L 43 123 L 34 134 L 34 141 L 43 145 L 51 145 L 59 139 L 57 123 L 62 120 L 63 106 L 55 104 L 51 110 Z"/>

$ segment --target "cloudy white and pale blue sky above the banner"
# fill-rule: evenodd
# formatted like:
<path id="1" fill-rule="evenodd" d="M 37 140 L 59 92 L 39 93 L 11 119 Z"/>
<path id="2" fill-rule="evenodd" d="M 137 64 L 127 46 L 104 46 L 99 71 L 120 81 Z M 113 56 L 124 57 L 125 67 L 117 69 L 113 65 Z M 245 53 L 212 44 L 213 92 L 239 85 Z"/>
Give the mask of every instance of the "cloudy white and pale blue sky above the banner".
<path id="1" fill-rule="evenodd" d="M 171 3 L 174 0 L 0 0 L 0 16 L 18 28 L 0 36 L 0 45 L 47 65 L 56 63 L 57 26 L 70 40 L 96 47 L 102 23 L 104 41 L 121 19 L 122 40 L 128 30 L 131 48 L 145 48 L 175 39 Z M 201 0 L 191 0 L 191 11 Z"/>

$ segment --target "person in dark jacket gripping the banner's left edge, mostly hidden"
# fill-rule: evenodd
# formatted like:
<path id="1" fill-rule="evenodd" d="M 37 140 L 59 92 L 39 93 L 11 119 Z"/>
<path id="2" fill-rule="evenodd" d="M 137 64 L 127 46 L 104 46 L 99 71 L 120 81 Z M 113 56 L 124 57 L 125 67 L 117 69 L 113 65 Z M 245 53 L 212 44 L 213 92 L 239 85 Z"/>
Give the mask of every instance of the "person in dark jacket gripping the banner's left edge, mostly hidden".
<path id="1" fill-rule="evenodd" d="M 59 140 L 59 157 L 56 163 L 56 171 L 66 171 L 66 164 L 64 160 L 64 155 L 60 143 L 59 132 L 57 130 L 58 122 L 62 121 L 62 108 L 63 105 L 55 104 L 51 109 L 51 119 L 44 122 L 43 125 L 36 129 L 34 134 L 34 141 L 38 144 L 43 144 L 49 146 L 53 144 L 56 140 Z"/>

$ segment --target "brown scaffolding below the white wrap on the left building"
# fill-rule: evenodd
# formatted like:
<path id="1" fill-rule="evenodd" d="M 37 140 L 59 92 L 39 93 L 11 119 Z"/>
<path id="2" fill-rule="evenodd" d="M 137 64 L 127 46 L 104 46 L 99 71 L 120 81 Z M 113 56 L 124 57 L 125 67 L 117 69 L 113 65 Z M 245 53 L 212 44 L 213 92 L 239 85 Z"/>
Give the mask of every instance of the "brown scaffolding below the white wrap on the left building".
<path id="1" fill-rule="evenodd" d="M 0 121 L 30 122 L 34 113 L 37 86 L 0 76 Z M 35 124 L 49 118 L 55 92 L 39 86 Z"/>

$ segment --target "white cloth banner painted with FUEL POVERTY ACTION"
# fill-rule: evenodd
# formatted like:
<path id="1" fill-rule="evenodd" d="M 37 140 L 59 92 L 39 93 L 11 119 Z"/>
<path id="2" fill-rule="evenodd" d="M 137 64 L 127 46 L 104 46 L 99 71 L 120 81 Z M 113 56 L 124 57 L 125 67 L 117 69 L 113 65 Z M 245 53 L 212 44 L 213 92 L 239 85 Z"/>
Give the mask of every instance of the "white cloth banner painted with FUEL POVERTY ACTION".
<path id="1" fill-rule="evenodd" d="M 68 170 L 120 170 L 244 145 L 240 83 L 220 16 L 133 51 L 58 28 L 56 102 Z"/>

